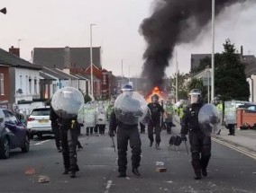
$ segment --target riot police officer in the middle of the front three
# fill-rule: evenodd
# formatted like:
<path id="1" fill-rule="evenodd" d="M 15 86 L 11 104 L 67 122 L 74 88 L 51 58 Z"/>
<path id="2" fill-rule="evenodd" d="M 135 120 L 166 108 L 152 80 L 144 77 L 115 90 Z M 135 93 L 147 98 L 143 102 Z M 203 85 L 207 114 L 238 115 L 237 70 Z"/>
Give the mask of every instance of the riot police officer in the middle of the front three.
<path id="1" fill-rule="evenodd" d="M 129 95 L 133 95 L 133 87 L 129 84 L 126 84 L 122 88 L 122 92 Z M 117 98 L 118 100 L 118 98 Z M 129 100 L 129 101 L 128 101 Z M 127 102 L 126 104 L 124 104 Z M 137 100 L 134 100 L 128 97 L 127 101 L 123 100 L 122 106 L 129 106 L 129 108 L 135 109 L 140 107 L 140 103 Z M 120 112 L 119 115 L 127 116 L 131 123 L 123 122 L 120 118 L 117 118 L 118 112 L 112 111 L 109 119 L 109 136 L 114 136 L 114 130 L 117 127 L 117 150 L 118 150 L 118 171 L 119 178 L 126 177 L 126 169 L 127 169 L 127 145 L 128 141 L 130 141 L 130 147 L 132 148 L 132 165 L 133 165 L 133 174 L 136 176 L 140 176 L 140 172 L 138 167 L 141 162 L 141 153 L 142 153 L 142 141 L 141 136 L 138 129 L 138 119 L 134 119 L 133 113 L 130 111 L 126 111 L 126 113 Z M 137 113 L 140 113 L 138 111 Z M 131 116 L 131 117 L 129 117 Z M 128 121 L 129 121 L 128 120 Z"/>

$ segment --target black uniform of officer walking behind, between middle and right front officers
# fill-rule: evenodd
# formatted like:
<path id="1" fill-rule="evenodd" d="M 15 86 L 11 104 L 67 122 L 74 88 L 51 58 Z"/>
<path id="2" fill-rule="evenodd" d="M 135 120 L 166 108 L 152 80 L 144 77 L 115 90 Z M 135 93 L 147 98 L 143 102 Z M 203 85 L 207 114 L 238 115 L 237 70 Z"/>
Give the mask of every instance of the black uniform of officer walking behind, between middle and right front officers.
<path id="1" fill-rule="evenodd" d="M 148 125 L 148 136 L 152 144 L 154 142 L 153 128 L 155 127 L 156 145 L 160 145 L 160 116 L 164 113 L 164 109 L 159 103 L 154 102 L 149 103 L 148 107 L 151 110 L 151 121 Z"/>

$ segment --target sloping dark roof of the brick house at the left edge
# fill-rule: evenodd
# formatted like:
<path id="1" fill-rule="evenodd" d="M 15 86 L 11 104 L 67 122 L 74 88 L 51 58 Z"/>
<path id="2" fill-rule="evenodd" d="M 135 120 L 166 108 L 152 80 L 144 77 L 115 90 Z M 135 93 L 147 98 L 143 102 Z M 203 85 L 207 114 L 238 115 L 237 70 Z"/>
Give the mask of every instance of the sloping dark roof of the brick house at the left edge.
<path id="1" fill-rule="evenodd" d="M 41 70 L 41 66 L 34 65 L 21 57 L 17 57 L 0 48 L 0 65 Z"/>

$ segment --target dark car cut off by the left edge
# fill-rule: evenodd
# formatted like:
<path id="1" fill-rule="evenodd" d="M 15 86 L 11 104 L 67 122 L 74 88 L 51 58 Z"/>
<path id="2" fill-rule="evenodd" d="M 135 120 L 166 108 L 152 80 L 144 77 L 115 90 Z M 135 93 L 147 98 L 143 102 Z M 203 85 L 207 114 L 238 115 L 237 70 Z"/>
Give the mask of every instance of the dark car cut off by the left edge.
<path id="1" fill-rule="evenodd" d="M 29 130 L 22 120 L 10 110 L 0 109 L 0 158 L 7 159 L 10 150 L 21 148 L 23 153 L 30 150 Z"/>

